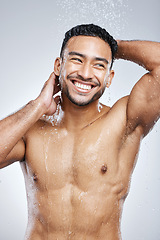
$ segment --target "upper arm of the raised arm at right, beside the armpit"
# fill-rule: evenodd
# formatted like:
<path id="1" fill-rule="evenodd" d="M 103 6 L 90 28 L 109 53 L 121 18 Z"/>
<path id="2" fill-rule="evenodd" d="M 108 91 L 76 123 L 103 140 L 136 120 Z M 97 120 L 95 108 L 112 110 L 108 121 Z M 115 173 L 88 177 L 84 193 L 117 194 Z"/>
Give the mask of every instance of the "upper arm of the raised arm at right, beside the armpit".
<path id="1" fill-rule="evenodd" d="M 145 136 L 160 117 L 160 68 L 145 74 L 134 86 L 127 105 L 127 126 Z"/>

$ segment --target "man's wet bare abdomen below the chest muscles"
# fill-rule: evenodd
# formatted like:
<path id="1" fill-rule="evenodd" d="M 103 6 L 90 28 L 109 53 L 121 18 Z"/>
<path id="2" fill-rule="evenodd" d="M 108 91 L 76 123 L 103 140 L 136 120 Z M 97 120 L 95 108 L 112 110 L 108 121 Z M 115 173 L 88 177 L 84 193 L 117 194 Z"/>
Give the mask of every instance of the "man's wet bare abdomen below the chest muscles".
<path id="1" fill-rule="evenodd" d="M 106 191 L 97 191 L 96 186 L 84 192 L 66 184 L 58 190 L 34 193 L 28 196 L 26 240 L 121 239 L 122 209 L 111 191 L 106 196 Z"/>

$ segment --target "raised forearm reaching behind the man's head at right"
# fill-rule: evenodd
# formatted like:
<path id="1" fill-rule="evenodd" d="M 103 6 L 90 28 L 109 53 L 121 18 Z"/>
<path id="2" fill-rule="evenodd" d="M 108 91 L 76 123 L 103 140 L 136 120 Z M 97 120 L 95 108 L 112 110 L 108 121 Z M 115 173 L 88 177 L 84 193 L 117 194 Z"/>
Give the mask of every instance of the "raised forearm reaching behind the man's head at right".
<path id="1" fill-rule="evenodd" d="M 151 41 L 118 41 L 116 59 L 135 62 L 148 71 L 160 66 L 160 43 Z"/>

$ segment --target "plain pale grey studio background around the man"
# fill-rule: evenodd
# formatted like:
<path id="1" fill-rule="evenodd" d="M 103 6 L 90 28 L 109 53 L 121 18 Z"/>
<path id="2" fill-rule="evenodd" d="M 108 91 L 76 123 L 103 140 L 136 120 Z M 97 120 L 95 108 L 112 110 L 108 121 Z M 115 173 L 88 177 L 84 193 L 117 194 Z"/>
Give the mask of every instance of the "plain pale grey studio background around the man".
<path id="1" fill-rule="evenodd" d="M 160 41 L 159 0 L 0 0 L 0 118 L 35 99 L 53 71 L 64 32 L 81 23 L 105 27 L 116 39 Z M 144 70 L 117 61 L 101 101 L 130 93 Z M 122 215 L 124 240 L 160 239 L 160 122 L 143 140 Z M 27 202 L 19 163 L 0 170 L 0 239 L 22 240 Z"/>

